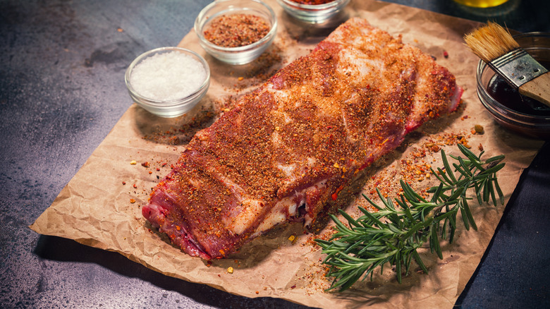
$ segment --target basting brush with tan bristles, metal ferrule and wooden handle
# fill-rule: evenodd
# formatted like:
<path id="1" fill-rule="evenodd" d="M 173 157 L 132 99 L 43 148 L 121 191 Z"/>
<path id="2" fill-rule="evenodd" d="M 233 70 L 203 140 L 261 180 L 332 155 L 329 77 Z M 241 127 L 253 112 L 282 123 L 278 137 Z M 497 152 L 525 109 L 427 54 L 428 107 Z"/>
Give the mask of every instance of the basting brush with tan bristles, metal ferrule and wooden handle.
<path id="1" fill-rule="evenodd" d="M 465 35 L 464 40 L 520 94 L 550 107 L 550 73 L 515 42 L 510 32 L 489 22 Z"/>

